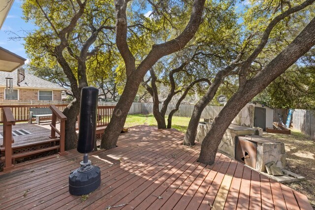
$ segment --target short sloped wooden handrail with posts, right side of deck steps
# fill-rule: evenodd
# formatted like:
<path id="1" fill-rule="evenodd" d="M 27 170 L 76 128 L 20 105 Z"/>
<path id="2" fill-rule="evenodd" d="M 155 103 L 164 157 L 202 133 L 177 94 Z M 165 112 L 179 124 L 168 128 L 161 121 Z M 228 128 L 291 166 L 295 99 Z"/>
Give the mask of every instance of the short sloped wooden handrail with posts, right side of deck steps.
<path id="1" fill-rule="evenodd" d="M 51 105 L 50 109 L 53 113 L 52 117 L 51 117 L 51 132 L 50 132 L 50 137 L 51 139 L 56 138 L 56 133 L 59 134 L 59 153 L 60 154 L 64 154 L 65 150 L 64 150 L 64 142 L 65 142 L 65 120 L 67 120 L 67 117 L 65 117 L 63 115 L 63 113 L 55 106 L 55 105 Z M 56 120 L 60 121 L 60 130 L 57 129 L 56 127 Z"/>

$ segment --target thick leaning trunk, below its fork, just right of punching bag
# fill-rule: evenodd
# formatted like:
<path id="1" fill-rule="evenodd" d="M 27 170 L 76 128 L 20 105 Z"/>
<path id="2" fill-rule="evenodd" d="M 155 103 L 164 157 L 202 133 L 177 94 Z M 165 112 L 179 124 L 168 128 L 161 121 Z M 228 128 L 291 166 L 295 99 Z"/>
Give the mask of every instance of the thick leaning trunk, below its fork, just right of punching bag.
<path id="1" fill-rule="evenodd" d="M 137 94 L 141 80 L 141 77 L 136 77 L 134 75 L 130 75 L 130 78 L 127 79 L 125 89 L 119 98 L 113 111 L 113 116 L 103 133 L 100 144 L 101 149 L 109 150 L 116 147 L 118 137 L 124 128 L 128 111 Z"/>

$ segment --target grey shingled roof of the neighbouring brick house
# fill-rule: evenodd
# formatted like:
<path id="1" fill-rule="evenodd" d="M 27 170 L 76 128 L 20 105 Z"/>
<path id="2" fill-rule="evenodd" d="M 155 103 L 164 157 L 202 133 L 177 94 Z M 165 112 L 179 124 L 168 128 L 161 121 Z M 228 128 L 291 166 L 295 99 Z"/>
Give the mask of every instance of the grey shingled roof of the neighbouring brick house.
<path id="1" fill-rule="evenodd" d="M 35 77 L 32 74 L 25 73 L 25 80 L 17 86 L 17 70 L 13 72 L 0 71 L 0 87 L 6 87 L 6 77 L 13 78 L 13 89 L 14 88 L 27 88 L 27 89 L 41 89 L 41 90 L 66 90 L 58 84 L 48 82 L 46 80 Z"/>

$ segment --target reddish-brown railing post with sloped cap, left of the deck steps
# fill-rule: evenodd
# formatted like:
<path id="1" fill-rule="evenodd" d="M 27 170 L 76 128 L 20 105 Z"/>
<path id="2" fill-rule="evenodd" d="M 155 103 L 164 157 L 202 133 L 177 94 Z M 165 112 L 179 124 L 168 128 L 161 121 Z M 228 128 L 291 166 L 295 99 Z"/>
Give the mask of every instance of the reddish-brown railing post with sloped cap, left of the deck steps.
<path id="1" fill-rule="evenodd" d="M 15 119 L 9 107 L 3 107 L 3 145 L 5 147 L 5 167 L 3 171 L 12 169 L 12 125 L 15 125 Z"/>

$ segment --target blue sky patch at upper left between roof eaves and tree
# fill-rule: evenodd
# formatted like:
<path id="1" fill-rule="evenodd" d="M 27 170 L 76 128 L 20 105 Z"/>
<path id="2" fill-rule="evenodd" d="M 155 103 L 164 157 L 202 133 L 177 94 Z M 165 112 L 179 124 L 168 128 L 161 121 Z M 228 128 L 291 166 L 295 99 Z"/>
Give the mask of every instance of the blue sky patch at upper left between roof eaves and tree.
<path id="1" fill-rule="evenodd" d="M 6 17 L 0 30 L 0 46 L 27 59 L 27 55 L 25 53 L 23 45 L 25 43 L 24 40 L 9 40 L 10 37 L 16 36 L 9 31 L 17 33 L 19 36 L 24 36 L 25 34 L 22 30 L 34 29 L 34 25 L 32 25 L 32 23 L 26 23 L 22 19 L 23 14 L 21 4 L 22 2 L 20 0 L 14 0 L 11 10 L 9 11 L 9 14 Z"/>

